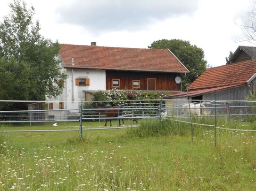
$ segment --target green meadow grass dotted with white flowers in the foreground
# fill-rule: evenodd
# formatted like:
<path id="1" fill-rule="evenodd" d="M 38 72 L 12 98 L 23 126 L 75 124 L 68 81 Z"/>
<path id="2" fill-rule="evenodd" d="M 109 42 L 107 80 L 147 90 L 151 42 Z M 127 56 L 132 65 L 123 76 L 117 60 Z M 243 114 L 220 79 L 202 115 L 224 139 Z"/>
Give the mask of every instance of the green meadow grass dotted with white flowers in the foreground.
<path id="1" fill-rule="evenodd" d="M 214 124 L 214 119 L 193 122 Z M 113 123 L 114 124 L 114 123 Z M 218 120 L 218 126 L 254 129 Z M 103 122 L 83 122 L 83 128 Z M 77 129 L 58 123 L 56 129 Z M 53 129 L 45 125 L 2 125 L 0 130 Z M 256 190 L 255 132 L 165 120 L 140 127 L 79 132 L 1 133 L 0 190 L 198 191 Z"/>

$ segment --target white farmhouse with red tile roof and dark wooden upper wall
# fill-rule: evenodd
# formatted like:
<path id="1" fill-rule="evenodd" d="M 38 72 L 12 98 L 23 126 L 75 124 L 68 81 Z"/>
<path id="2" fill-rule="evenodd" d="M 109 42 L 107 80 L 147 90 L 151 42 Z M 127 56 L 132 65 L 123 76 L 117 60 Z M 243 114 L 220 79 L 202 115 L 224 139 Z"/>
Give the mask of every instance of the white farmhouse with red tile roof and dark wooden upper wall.
<path id="1" fill-rule="evenodd" d="M 68 78 L 50 109 L 78 108 L 98 90 L 181 92 L 175 78 L 189 72 L 168 49 L 62 44 L 58 59 Z"/>

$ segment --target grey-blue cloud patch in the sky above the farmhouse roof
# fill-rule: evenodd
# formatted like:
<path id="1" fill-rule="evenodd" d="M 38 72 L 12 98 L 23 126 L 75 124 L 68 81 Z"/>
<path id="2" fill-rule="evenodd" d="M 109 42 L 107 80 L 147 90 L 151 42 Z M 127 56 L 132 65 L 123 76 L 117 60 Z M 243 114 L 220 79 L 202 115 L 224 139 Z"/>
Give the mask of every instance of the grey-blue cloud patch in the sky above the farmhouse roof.
<path id="1" fill-rule="evenodd" d="M 169 17 L 192 14 L 198 0 L 72 0 L 57 8 L 59 23 L 103 33 L 140 31 Z"/>

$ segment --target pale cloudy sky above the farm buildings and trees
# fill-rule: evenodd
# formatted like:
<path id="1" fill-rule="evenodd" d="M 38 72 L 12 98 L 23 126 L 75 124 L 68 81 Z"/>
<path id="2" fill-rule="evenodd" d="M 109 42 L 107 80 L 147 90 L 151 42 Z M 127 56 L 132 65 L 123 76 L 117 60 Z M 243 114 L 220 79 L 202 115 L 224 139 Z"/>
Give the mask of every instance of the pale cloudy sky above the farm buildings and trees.
<path id="1" fill-rule="evenodd" d="M 0 0 L 0 22 L 12 0 Z M 251 0 L 25 0 L 33 5 L 41 35 L 75 45 L 148 48 L 160 39 L 188 40 L 202 48 L 208 64 L 244 41 L 239 27 Z"/>

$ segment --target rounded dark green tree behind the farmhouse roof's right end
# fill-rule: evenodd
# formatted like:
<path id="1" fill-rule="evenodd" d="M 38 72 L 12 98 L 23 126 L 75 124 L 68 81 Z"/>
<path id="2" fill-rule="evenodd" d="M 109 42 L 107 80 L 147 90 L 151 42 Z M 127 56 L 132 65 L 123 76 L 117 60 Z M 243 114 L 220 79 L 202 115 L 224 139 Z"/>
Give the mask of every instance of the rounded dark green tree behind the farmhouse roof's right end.
<path id="1" fill-rule="evenodd" d="M 149 48 L 168 48 L 190 70 L 186 76 L 182 75 L 182 89 L 192 83 L 207 68 L 204 51 L 189 41 L 179 39 L 162 39 L 154 41 Z"/>

